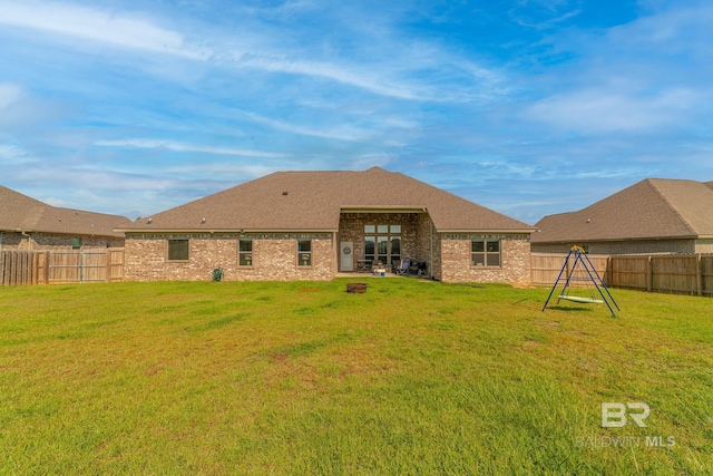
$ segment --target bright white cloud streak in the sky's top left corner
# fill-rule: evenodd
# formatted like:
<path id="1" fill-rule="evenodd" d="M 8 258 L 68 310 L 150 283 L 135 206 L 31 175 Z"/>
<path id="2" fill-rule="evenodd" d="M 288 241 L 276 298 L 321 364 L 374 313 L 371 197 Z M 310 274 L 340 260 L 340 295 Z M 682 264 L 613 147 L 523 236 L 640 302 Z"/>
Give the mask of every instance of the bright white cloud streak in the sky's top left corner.
<path id="1" fill-rule="evenodd" d="M 184 37 L 153 22 L 97 8 L 41 1 L 0 1 L 0 23 L 100 41 L 123 48 L 205 58 Z"/>

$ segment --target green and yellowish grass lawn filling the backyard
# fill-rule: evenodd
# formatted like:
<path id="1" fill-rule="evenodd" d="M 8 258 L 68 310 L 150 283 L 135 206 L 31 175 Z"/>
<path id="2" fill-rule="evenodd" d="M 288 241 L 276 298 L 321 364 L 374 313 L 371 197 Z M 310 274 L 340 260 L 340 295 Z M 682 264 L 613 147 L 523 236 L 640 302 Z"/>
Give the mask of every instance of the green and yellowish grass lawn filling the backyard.
<path id="1" fill-rule="evenodd" d="M 0 288 L 0 474 L 711 474 L 713 300 L 346 282 Z"/>

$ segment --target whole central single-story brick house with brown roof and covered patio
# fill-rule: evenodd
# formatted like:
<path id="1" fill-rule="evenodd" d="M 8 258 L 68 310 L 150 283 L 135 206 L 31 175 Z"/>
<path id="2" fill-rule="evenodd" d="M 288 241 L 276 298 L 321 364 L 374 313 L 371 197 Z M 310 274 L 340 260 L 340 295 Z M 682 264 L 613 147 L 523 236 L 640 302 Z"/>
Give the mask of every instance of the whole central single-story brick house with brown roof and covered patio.
<path id="1" fill-rule="evenodd" d="M 410 259 L 447 282 L 529 283 L 534 227 L 373 167 L 279 172 L 117 231 L 135 281 L 331 280 Z"/>

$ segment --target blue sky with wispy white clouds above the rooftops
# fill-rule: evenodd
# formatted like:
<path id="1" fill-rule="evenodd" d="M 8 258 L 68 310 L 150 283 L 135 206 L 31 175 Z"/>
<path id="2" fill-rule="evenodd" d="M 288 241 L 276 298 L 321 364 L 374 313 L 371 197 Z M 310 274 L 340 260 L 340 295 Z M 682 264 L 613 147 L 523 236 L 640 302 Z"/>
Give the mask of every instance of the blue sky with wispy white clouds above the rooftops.
<path id="1" fill-rule="evenodd" d="M 0 0 L 0 184 L 136 218 L 402 172 L 527 223 L 713 181 L 713 4 Z"/>

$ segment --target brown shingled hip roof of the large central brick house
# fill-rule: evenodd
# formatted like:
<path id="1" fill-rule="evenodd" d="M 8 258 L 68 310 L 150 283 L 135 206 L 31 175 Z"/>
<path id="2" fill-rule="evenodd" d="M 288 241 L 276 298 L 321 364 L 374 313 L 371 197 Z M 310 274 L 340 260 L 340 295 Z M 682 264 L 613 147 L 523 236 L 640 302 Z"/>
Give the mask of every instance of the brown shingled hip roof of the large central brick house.
<path id="1" fill-rule="evenodd" d="M 342 211 L 428 211 L 439 232 L 534 229 L 400 173 L 276 172 L 121 231 L 338 231 Z M 205 223 L 203 222 L 205 218 Z"/>

